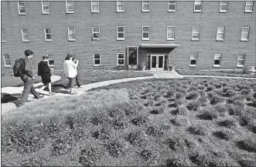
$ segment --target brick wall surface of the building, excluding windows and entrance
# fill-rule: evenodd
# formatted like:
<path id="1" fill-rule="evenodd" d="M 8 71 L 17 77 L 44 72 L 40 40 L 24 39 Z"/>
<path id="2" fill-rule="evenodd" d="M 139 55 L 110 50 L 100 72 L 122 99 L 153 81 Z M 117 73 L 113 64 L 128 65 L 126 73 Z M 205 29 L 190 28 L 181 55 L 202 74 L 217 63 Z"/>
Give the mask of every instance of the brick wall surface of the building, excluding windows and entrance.
<path id="1" fill-rule="evenodd" d="M 189 68 L 193 53 L 199 54 L 196 68 L 213 68 L 214 53 L 223 55 L 221 68 L 236 68 L 237 55 L 242 53 L 246 53 L 245 65 L 256 65 L 255 2 L 253 13 L 244 13 L 245 2 L 228 2 L 227 13 L 219 13 L 220 2 L 203 2 L 202 12 L 194 13 L 193 3 L 176 2 L 176 12 L 168 12 L 168 2 L 151 2 L 150 12 L 142 12 L 142 2 L 125 2 L 125 13 L 117 13 L 116 2 L 100 2 L 100 12 L 91 13 L 90 1 L 74 2 L 74 13 L 66 14 L 65 2 L 49 2 L 50 14 L 42 15 L 41 2 L 26 2 L 26 15 L 18 15 L 17 2 L 2 2 L 7 38 L 2 54 L 10 55 L 12 65 L 26 49 L 35 52 L 35 65 L 43 55 L 53 54 L 55 68 L 62 69 L 70 52 L 77 54 L 81 68 L 93 68 L 94 53 L 101 54 L 101 64 L 117 65 L 117 54 L 126 53 L 128 46 L 173 43 L 180 45 L 169 52 L 175 54 L 176 68 Z M 200 25 L 200 41 L 191 41 L 193 25 Z M 125 26 L 125 41 L 117 41 L 117 26 Z M 142 41 L 142 26 L 150 28 L 149 41 Z M 175 41 L 166 40 L 167 26 L 176 26 Z M 217 26 L 225 26 L 224 42 L 216 41 Z M 243 26 L 250 27 L 249 42 L 240 42 Z M 68 42 L 68 27 L 76 28 L 76 42 Z M 91 40 L 92 27 L 100 27 L 99 41 Z M 30 42 L 22 42 L 21 28 L 29 28 Z M 52 28 L 53 42 L 45 42 L 44 28 Z M 147 52 L 138 49 L 145 53 L 138 60 L 141 63 Z M 2 71 L 10 69 L 1 60 Z"/>

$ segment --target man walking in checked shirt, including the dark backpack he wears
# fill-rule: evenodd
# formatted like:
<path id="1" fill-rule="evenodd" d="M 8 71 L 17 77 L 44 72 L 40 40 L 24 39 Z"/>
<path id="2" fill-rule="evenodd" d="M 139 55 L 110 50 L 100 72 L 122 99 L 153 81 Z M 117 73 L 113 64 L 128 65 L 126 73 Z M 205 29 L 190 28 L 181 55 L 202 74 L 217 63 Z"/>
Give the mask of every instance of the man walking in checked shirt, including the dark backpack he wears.
<path id="1" fill-rule="evenodd" d="M 41 99 L 43 96 L 40 96 L 38 92 L 36 92 L 33 86 L 34 76 L 32 74 L 32 56 L 33 53 L 31 50 L 26 50 L 24 54 L 25 58 L 19 59 L 19 65 L 13 65 L 13 71 L 15 76 L 19 75 L 24 82 L 24 90 L 22 92 L 22 98 L 20 99 L 19 105 L 24 105 L 29 97 L 29 92 L 32 93 L 36 97 L 36 99 Z M 16 62 L 15 62 L 16 64 Z"/>

